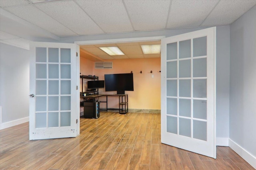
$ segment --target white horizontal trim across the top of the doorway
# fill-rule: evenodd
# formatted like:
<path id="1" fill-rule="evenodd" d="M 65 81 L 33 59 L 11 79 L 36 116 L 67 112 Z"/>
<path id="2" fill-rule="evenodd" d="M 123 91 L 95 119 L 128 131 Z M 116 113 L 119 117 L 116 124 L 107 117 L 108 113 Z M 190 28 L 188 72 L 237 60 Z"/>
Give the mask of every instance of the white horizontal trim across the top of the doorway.
<path id="1" fill-rule="evenodd" d="M 165 38 L 165 36 L 156 37 L 136 37 L 136 38 L 120 38 L 120 39 L 101 39 L 101 40 L 88 40 L 88 41 L 75 41 L 77 45 L 86 44 L 104 44 L 104 43 L 125 43 L 125 42 L 136 42 L 136 41 L 156 41 Z"/>

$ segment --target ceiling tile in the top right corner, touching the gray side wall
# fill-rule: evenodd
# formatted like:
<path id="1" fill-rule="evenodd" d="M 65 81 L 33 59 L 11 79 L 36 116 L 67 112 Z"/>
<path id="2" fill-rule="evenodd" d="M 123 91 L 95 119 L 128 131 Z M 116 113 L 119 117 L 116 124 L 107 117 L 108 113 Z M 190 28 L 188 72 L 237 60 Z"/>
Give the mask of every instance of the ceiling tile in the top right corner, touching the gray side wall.
<path id="1" fill-rule="evenodd" d="M 256 0 L 223 0 L 200 26 L 229 25 L 256 5 Z"/>

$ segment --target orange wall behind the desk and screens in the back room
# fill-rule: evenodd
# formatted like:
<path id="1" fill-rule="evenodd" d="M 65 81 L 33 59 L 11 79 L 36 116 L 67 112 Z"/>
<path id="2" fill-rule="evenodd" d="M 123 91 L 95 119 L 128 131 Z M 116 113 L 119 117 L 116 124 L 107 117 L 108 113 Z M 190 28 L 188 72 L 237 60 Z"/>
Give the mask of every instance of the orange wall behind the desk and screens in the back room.
<path id="1" fill-rule="evenodd" d="M 110 60 L 108 60 L 110 61 Z M 128 106 L 130 109 L 161 109 L 161 59 L 116 59 L 112 60 L 112 69 L 95 69 L 93 64 L 93 74 L 104 80 L 104 74 L 118 74 L 133 72 L 134 91 L 125 91 L 128 94 Z M 81 64 L 81 62 L 80 62 Z M 81 65 L 82 67 L 83 65 Z M 152 73 L 150 71 L 152 70 Z M 142 71 L 142 73 L 140 73 Z M 88 74 L 86 74 L 88 75 Z M 152 77 L 154 76 L 154 77 Z M 115 92 L 105 92 L 99 89 L 100 93 L 116 94 Z M 104 101 L 102 97 L 100 100 Z M 108 98 L 109 108 L 119 108 L 117 97 Z M 106 107 L 101 103 L 100 107 Z"/>

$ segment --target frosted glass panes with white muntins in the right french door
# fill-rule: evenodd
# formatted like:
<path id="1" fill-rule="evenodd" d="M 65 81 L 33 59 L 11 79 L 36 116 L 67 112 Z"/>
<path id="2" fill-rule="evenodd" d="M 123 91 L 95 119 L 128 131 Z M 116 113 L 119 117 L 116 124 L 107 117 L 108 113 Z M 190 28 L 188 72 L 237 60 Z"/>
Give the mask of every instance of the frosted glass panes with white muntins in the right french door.
<path id="1" fill-rule="evenodd" d="M 207 37 L 167 44 L 167 132 L 207 141 Z"/>

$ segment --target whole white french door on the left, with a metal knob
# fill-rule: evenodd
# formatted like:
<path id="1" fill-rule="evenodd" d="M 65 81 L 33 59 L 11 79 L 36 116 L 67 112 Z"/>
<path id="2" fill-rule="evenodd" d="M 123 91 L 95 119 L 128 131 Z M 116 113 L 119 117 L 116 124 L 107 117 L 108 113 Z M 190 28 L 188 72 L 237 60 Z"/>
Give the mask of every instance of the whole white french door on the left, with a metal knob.
<path id="1" fill-rule="evenodd" d="M 79 135 L 76 48 L 67 43 L 30 44 L 30 140 Z"/>

